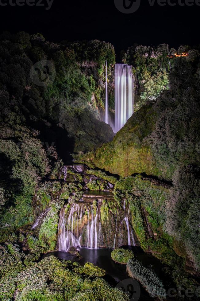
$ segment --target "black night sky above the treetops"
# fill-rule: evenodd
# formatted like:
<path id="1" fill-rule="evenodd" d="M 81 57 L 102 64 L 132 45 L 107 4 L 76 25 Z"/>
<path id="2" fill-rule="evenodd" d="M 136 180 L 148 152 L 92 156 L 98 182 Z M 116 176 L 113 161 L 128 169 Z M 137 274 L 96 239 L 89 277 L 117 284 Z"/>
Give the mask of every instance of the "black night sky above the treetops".
<path id="1" fill-rule="evenodd" d="M 41 1 L 48 6 L 47 0 Z M 99 39 L 111 42 L 117 52 L 134 43 L 167 43 L 171 47 L 199 44 L 200 6 L 158 6 L 157 0 L 150 6 L 148 0 L 141 2 L 133 14 L 119 12 L 114 0 L 54 0 L 50 10 L 8 4 L 0 6 L 0 31 L 39 32 L 49 41 Z"/>

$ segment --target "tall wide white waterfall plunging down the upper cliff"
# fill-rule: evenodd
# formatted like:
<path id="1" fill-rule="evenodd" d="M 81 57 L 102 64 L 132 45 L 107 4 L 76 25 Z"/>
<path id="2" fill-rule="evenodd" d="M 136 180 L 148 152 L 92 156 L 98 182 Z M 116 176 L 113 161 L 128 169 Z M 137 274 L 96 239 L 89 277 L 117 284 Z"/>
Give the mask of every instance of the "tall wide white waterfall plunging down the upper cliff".
<path id="1" fill-rule="evenodd" d="M 115 64 L 115 132 L 117 133 L 133 114 L 132 67 Z"/>

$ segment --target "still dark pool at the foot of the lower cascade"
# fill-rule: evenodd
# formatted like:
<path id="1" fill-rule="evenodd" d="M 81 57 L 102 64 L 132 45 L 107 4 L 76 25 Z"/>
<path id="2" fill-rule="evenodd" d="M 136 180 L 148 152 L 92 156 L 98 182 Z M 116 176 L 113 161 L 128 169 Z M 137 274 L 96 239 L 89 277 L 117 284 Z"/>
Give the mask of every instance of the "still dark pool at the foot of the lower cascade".
<path id="1" fill-rule="evenodd" d="M 155 257 L 144 253 L 141 248 L 138 247 L 126 247 L 132 249 L 137 260 L 140 260 L 144 266 L 152 265 L 153 270 L 157 275 L 160 274 L 161 264 L 160 261 Z M 81 248 L 79 253 L 82 256 L 78 262 L 84 265 L 87 261 L 97 265 L 98 267 L 104 269 L 107 275 L 104 277 L 111 286 L 116 286 L 118 282 L 124 279 L 128 279 L 129 276 L 126 272 L 125 264 L 115 263 L 111 259 L 112 249 L 107 248 L 98 248 L 98 249 L 87 249 Z M 54 255 L 63 260 L 71 260 L 77 261 L 75 256 L 70 255 L 64 251 L 54 252 Z M 144 290 L 144 288 L 140 285 L 141 296 L 140 300 L 153 300 L 149 297 L 148 293 Z"/>

